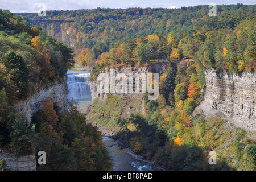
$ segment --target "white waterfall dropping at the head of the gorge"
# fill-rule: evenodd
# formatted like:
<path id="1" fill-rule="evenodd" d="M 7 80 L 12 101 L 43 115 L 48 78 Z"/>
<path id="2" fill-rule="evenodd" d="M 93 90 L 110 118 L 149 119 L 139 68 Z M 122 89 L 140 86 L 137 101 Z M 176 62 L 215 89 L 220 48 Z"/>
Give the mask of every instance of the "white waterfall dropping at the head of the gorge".
<path id="1" fill-rule="evenodd" d="M 82 71 L 68 71 L 68 100 L 92 100 L 88 80 L 90 73 Z"/>

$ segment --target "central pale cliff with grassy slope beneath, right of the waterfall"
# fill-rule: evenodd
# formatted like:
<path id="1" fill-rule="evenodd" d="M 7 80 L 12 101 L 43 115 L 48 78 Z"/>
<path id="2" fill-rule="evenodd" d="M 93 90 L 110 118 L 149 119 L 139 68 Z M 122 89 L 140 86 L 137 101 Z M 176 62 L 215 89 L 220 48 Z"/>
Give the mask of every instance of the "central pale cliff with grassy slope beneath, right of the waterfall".
<path id="1" fill-rule="evenodd" d="M 110 78 L 110 70 L 107 71 L 105 69 L 105 71 L 102 71 L 101 73 L 106 73 L 106 76 Z M 148 68 L 122 67 L 119 69 L 115 69 L 115 76 L 117 76 L 118 73 L 123 73 L 127 77 L 129 77 L 129 74 L 134 73 L 147 74 Z M 97 120 L 96 122 L 99 122 L 100 125 L 108 127 L 109 129 L 112 129 L 112 131 L 114 131 L 118 130 L 118 124 L 116 123 L 115 118 L 127 118 L 129 115 L 136 112 L 144 113 L 143 93 L 141 92 L 141 90 L 139 93 L 100 93 L 98 92 L 98 85 L 100 84 L 100 82 L 101 80 L 98 81 L 97 79 L 94 81 L 89 81 L 93 100 L 91 113 L 93 113 L 94 117 L 97 117 L 97 119 L 93 119 L 93 117 L 91 119 L 93 119 L 94 121 Z M 136 85 L 137 84 L 135 84 L 134 82 L 134 88 Z"/>

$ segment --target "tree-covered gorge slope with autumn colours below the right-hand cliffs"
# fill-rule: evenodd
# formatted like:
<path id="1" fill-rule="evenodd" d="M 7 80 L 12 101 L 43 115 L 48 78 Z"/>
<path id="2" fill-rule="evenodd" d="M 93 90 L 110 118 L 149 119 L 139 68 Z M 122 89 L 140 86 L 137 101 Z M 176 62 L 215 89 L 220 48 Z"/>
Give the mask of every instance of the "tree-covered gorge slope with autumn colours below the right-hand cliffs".
<path id="1" fill-rule="evenodd" d="M 145 159 L 154 159 L 167 170 L 245 170 L 254 171 L 256 140 L 251 131 L 236 127 L 221 117 L 209 117 L 193 110 L 203 100 L 204 80 L 195 63 L 183 61 L 177 69 L 170 64 L 159 82 L 159 97 L 148 94 L 137 101 L 144 113 L 122 117 L 123 105 L 131 98 L 110 95 L 94 100 L 88 117 L 100 125 L 119 130 L 118 140 Z M 135 105 L 136 104 L 136 105 Z M 113 119 L 114 118 L 114 119 Z M 117 129 L 117 126 L 118 129 Z M 217 165 L 208 163 L 209 152 L 217 152 Z"/>

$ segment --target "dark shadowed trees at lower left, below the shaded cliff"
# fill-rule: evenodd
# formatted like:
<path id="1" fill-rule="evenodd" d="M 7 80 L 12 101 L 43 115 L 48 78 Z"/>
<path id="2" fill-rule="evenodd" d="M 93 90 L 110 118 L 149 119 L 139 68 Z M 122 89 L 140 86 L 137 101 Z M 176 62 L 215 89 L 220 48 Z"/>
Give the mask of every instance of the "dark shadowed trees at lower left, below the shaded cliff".
<path id="1" fill-rule="evenodd" d="M 43 107 L 34 113 L 31 123 L 39 132 L 37 145 L 46 152 L 47 167 L 38 170 L 108 170 L 112 168 L 100 132 L 85 123 L 75 102 L 69 104 L 69 112 L 57 115 L 58 107 L 47 98 Z M 56 158 L 58 156 L 58 158 Z"/>

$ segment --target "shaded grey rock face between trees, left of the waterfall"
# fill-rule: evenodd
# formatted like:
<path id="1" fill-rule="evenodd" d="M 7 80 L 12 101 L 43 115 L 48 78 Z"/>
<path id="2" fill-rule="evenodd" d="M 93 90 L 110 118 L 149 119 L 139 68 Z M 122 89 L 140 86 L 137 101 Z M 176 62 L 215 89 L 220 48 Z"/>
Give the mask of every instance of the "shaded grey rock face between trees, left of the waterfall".
<path id="1" fill-rule="evenodd" d="M 15 104 L 15 111 L 20 112 L 28 123 L 31 122 L 32 113 L 39 111 L 42 107 L 42 101 L 51 98 L 52 103 L 56 102 L 60 112 L 67 112 L 67 78 L 60 78 L 56 83 L 50 83 L 43 86 L 37 93 L 33 94 L 27 100 L 19 101 Z"/>

